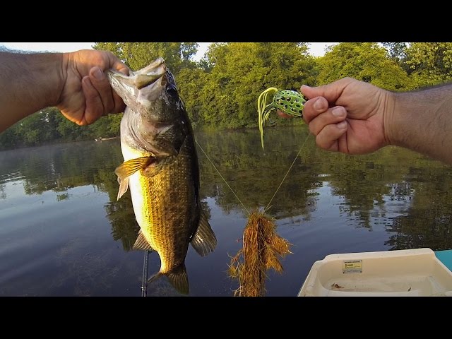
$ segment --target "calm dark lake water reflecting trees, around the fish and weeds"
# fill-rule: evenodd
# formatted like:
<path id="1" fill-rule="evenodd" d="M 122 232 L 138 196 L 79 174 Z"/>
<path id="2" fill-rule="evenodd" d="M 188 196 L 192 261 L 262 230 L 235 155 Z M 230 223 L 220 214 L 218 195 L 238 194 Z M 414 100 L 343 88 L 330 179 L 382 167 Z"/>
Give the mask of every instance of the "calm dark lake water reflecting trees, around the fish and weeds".
<path id="1" fill-rule="evenodd" d="M 452 170 L 387 147 L 371 155 L 329 153 L 306 126 L 266 131 L 196 132 L 247 209 L 267 206 L 278 234 L 293 244 L 284 273 L 270 272 L 268 296 L 295 296 L 311 265 L 328 254 L 429 247 L 452 249 Z M 189 247 L 191 296 L 232 296 L 230 256 L 242 248 L 247 215 L 198 151 L 201 198 L 218 246 Z M 116 201 L 119 140 L 0 152 L 0 296 L 140 296 L 143 251 L 129 191 Z M 149 273 L 160 268 L 149 256 Z M 160 278 L 148 295 L 178 295 Z"/>

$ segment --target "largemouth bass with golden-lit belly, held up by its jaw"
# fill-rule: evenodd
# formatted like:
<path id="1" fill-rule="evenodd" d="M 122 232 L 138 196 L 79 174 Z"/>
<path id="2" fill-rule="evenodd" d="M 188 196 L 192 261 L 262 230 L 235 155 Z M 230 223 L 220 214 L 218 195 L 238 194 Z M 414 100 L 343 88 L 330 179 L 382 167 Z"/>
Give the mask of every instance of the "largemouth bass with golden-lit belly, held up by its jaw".
<path id="1" fill-rule="evenodd" d="M 109 70 L 112 88 L 126 104 L 121 119 L 124 162 L 115 170 L 117 198 L 130 187 L 140 231 L 133 249 L 155 250 L 160 271 L 188 294 L 185 257 L 191 244 L 201 256 L 217 239 L 201 210 L 198 156 L 191 123 L 174 77 L 162 58 L 129 76 Z"/>

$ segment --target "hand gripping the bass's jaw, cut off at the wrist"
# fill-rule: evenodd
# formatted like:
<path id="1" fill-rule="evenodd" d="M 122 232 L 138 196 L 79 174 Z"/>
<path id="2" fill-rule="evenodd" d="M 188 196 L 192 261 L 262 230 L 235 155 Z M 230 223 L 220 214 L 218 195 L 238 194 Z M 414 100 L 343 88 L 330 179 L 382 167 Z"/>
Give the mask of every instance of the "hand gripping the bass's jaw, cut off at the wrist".
<path id="1" fill-rule="evenodd" d="M 123 100 L 105 76 L 107 69 L 129 75 L 127 66 L 111 52 L 83 49 L 63 54 L 62 90 L 56 106 L 64 117 L 83 126 L 109 113 L 124 112 Z"/>

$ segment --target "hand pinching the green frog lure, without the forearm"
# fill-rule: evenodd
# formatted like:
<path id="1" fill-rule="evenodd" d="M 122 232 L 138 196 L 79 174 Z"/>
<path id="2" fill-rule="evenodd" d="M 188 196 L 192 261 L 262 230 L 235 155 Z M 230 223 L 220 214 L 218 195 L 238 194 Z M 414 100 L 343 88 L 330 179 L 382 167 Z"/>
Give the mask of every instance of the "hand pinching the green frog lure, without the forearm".
<path id="1" fill-rule="evenodd" d="M 303 119 L 320 148 L 364 154 L 389 144 L 384 121 L 390 92 L 353 78 L 316 88 L 302 85 L 301 92 L 309 99 Z"/>

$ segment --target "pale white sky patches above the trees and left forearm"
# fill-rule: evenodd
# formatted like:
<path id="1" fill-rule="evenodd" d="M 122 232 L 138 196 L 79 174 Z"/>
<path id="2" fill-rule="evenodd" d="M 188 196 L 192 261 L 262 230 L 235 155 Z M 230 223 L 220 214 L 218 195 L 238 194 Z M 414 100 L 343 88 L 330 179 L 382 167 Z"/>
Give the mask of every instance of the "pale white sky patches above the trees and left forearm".
<path id="1" fill-rule="evenodd" d="M 94 42 L 0 42 L 0 47 L 32 52 L 74 52 L 78 49 L 92 49 L 93 44 Z M 198 44 L 195 60 L 203 57 L 210 42 L 198 42 Z M 321 57 L 325 53 L 325 47 L 331 44 L 335 42 L 310 42 L 309 51 L 315 57 Z"/>

